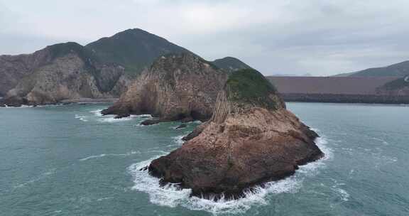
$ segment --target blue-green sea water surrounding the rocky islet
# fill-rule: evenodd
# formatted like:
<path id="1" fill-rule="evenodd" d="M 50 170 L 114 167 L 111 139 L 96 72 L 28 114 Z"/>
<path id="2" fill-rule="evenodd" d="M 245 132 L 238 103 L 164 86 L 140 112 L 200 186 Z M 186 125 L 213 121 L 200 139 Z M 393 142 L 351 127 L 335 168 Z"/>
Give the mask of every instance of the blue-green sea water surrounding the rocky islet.
<path id="1" fill-rule="evenodd" d="M 288 103 L 325 158 L 218 202 L 160 188 L 140 168 L 200 122 L 139 126 L 109 104 L 0 108 L 0 215 L 409 215 L 409 107 Z"/>

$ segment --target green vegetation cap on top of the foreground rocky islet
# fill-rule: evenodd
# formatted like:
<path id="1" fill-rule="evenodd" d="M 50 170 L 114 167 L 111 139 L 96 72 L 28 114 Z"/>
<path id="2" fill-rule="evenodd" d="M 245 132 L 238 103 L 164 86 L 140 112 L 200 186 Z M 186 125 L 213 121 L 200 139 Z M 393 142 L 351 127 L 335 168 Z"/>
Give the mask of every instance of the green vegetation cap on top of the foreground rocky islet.
<path id="1" fill-rule="evenodd" d="M 271 82 L 253 69 L 232 72 L 226 82 L 228 98 L 267 109 L 278 109 L 282 104 Z"/>

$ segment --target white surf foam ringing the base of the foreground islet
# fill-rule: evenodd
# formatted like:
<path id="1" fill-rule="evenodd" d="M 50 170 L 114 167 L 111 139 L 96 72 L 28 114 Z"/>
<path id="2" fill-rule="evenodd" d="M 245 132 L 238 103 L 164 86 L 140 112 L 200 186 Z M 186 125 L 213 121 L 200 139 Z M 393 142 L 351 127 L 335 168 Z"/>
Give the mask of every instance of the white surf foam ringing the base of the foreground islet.
<path id="1" fill-rule="evenodd" d="M 182 136 L 177 136 L 175 137 L 175 141 L 181 140 L 181 138 Z M 158 178 L 149 175 L 148 171 L 141 170 L 146 168 L 146 166 L 149 166 L 151 161 L 159 156 L 129 166 L 128 171 L 133 176 L 133 182 L 135 183 L 131 189 L 148 193 L 149 200 L 156 205 L 168 207 L 182 206 L 190 210 L 204 210 L 211 212 L 213 215 L 244 213 L 253 206 L 270 205 L 271 203 L 268 202 L 268 196 L 270 195 L 297 193 L 302 187 L 302 182 L 305 176 L 316 175 L 319 168 L 325 166 L 325 161 L 333 157 L 332 150 L 326 146 L 327 140 L 324 137 L 318 138 L 316 143 L 325 153 L 324 158 L 308 163 L 305 166 L 300 166 L 300 169 L 296 171 L 295 175 L 288 178 L 266 183 L 264 187 L 256 187 L 252 191 L 248 190 L 246 191 L 244 198 L 237 200 L 222 198 L 216 201 L 190 197 L 190 189 L 178 190 L 176 185 L 172 184 L 160 187 Z M 165 153 L 163 155 L 165 155 Z M 347 192 L 342 189 L 339 189 L 339 193 L 344 195 L 342 197 L 344 199 L 349 197 L 349 194 L 347 195 Z"/>

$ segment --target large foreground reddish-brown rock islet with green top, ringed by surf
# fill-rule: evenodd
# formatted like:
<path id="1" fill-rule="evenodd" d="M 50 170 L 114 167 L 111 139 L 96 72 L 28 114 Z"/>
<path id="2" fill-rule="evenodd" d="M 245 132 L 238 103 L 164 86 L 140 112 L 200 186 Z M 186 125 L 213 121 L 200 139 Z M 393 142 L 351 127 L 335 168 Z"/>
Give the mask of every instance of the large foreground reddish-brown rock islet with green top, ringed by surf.
<path id="1" fill-rule="evenodd" d="M 192 188 L 192 195 L 238 198 L 246 188 L 285 178 L 321 158 L 317 136 L 285 109 L 263 75 L 239 70 L 219 92 L 212 118 L 148 170 L 162 183 Z"/>

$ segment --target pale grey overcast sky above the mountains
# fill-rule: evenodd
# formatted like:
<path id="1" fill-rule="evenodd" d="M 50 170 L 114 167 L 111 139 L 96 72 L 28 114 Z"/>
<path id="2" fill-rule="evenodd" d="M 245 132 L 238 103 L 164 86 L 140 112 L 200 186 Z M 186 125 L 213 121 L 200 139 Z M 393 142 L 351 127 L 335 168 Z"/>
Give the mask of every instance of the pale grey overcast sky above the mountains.
<path id="1" fill-rule="evenodd" d="M 408 0 L 0 0 L 0 54 L 142 28 L 264 75 L 333 75 L 409 60 Z"/>

